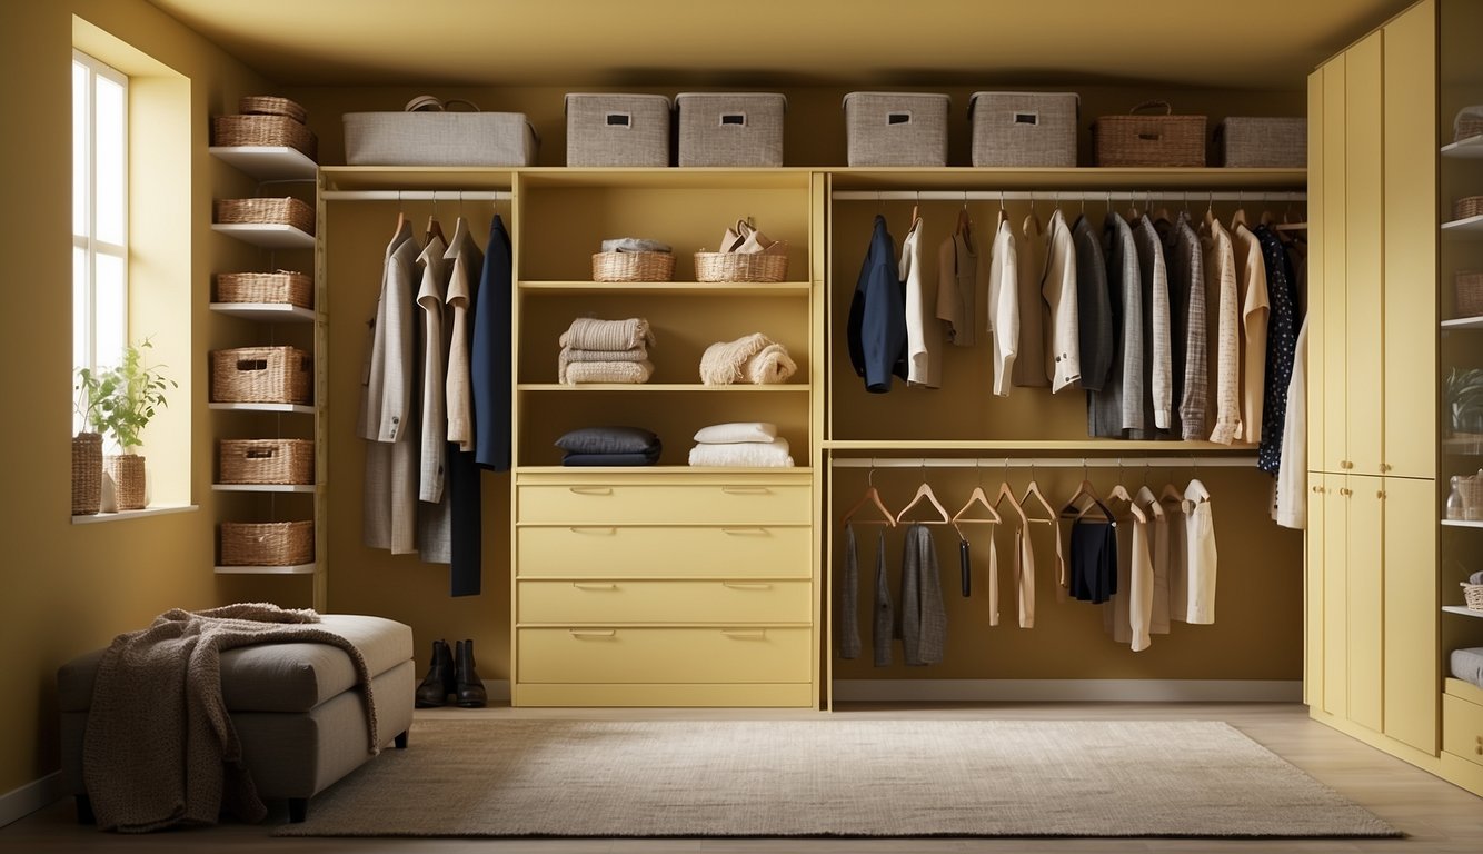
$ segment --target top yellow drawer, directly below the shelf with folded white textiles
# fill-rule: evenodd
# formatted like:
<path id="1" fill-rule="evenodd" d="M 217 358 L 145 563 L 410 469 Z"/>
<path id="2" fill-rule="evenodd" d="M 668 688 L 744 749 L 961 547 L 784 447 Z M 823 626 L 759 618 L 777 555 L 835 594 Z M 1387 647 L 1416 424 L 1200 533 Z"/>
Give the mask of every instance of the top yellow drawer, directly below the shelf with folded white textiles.
<path id="1" fill-rule="evenodd" d="M 808 523 L 807 483 L 541 483 L 516 489 L 519 522 Z"/>

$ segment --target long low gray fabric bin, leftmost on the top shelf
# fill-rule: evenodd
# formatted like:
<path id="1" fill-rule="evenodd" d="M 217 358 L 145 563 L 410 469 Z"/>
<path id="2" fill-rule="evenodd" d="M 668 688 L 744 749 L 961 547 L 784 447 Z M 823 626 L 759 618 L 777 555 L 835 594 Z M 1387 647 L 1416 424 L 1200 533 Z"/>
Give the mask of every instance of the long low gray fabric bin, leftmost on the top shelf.
<path id="1" fill-rule="evenodd" d="M 523 113 L 346 113 L 350 166 L 529 166 L 540 139 Z"/>

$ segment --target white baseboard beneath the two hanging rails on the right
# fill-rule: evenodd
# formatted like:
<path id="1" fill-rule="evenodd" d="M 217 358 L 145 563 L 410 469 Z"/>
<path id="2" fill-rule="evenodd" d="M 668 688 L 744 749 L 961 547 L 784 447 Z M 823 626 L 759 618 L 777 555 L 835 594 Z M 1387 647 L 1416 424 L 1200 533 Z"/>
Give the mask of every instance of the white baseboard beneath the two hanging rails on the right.
<path id="1" fill-rule="evenodd" d="M 838 679 L 845 701 L 1301 703 L 1301 679 Z"/>

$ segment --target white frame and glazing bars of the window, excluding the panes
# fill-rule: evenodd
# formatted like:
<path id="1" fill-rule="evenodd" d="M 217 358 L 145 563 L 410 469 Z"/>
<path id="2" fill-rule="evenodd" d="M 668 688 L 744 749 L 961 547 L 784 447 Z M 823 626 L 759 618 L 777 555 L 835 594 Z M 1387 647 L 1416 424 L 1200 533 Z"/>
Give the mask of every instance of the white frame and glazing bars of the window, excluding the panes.
<path id="1" fill-rule="evenodd" d="M 119 359 L 117 353 L 98 353 L 99 328 L 105 323 L 116 325 L 116 337 L 119 341 L 129 341 L 129 77 L 113 68 L 111 65 L 83 53 L 82 50 L 73 50 L 74 67 L 82 67 L 87 71 L 87 86 L 86 86 L 86 110 L 77 110 L 74 105 L 73 116 L 85 117 L 86 126 L 74 128 L 74 153 L 77 153 L 77 136 L 85 139 L 82 160 L 83 163 L 73 165 L 74 179 L 82 173 L 82 181 L 86 184 L 86 191 L 80 194 L 74 193 L 74 200 L 80 200 L 86 206 L 83 216 L 83 233 L 77 231 L 77 216 L 73 215 L 73 246 L 80 251 L 85 264 L 83 276 L 79 277 L 77 271 L 73 271 L 73 334 L 77 337 L 79 329 L 86 329 L 82 335 L 82 341 L 73 341 L 73 354 L 77 365 L 74 368 L 90 368 L 96 371 L 99 366 L 108 366 Z M 116 83 L 123 89 L 123 114 L 120 117 L 119 139 L 116 141 L 122 147 L 122 162 L 123 175 L 120 176 L 122 185 L 122 205 L 123 205 L 123 222 L 122 222 L 122 242 L 113 243 L 98 237 L 98 80 L 104 79 Z M 74 252 L 74 256 L 77 254 Z M 99 317 L 98 308 L 98 258 L 108 256 L 116 258 L 119 268 L 123 276 L 123 292 L 122 302 L 123 310 L 119 317 Z M 73 415 L 74 421 L 77 415 Z M 74 431 L 82 430 L 82 424 L 73 424 Z"/>

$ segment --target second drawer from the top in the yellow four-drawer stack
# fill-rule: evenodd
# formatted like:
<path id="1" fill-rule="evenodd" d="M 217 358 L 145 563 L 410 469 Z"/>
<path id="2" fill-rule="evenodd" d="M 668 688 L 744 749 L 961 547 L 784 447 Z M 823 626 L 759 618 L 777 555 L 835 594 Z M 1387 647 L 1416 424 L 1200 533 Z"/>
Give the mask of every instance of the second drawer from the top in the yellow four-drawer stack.
<path id="1" fill-rule="evenodd" d="M 521 526 L 515 531 L 515 541 L 516 574 L 522 578 L 813 575 L 813 534 L 808 526 Z"/>

